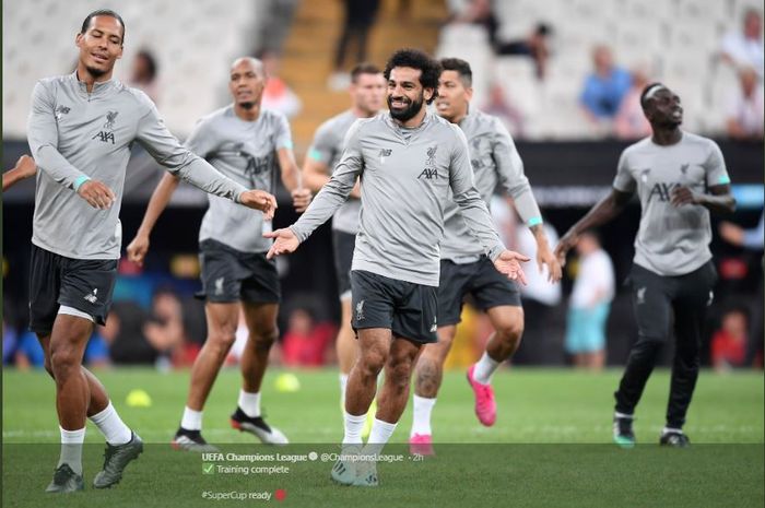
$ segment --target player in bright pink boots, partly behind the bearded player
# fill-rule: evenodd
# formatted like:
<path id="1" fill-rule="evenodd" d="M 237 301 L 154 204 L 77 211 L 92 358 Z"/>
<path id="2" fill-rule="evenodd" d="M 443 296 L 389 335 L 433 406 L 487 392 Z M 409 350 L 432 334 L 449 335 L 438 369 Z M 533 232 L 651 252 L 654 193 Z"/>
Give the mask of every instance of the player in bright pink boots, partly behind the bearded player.
<path id="1" fill-rule="evenodd" d="M 548 243 L 542 214 L 523 174 L 523 163 L 513 138 L 498 118 L 470 108 L 472 70 L 459 58 L 440 60 L 436 111 L 458 125 L 468 138 L 475 186 L 489 203 L 495 189 L 511 197 L 518 214 L 537 240 L 539 270 L 546 269 L 552 281 L 561 279 L 561 265 Z M 483 355 L 468 370 L 468 381 L 475 398 L 475 414 L 486 426 L 496 420 L 496 401 L 491 377 L 510 358 L 523 332 L 523 309 L 515 282 L 498 273 L 470 234 L 459 208 L 448 202 L 444 210 L 444 240 L 440 245 L 440 283 L 438 285 L 438 342 L 423 347 L 415 369 L 413 416 L 410 450 L 433 454 L 431 414 L 444 375 L 444 363 L 460 322 L 462 300 L 470 294 L 485 310 L 495 333 Z"/>

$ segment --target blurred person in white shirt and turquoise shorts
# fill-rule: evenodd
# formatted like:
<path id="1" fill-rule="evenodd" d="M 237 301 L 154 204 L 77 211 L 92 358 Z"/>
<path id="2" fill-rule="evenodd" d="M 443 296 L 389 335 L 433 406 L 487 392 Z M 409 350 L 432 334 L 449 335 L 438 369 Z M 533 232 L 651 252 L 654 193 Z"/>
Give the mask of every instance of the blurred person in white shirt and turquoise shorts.
<path id="1" fill-rule="evenodd" d="M 614 296 L 611 258 L 593 232 L 585 232 L 576 245 L 579 268 L 568 303 L 566 352 L 574 365 L 600 370 L 605 363 L 605 322 Z"/>

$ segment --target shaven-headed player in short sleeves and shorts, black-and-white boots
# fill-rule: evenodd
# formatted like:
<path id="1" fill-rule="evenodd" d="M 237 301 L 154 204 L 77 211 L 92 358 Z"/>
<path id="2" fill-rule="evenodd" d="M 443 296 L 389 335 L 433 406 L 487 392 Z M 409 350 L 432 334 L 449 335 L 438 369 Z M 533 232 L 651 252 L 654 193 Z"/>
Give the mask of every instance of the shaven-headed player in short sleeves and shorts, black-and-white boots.
<path id="1" fill-rule="evenodd" d="M 202 118 L 186 146 L 233 180 L 271 191 L 278 164 L 284 186 L 292 191 L 295 209 L 303 211 L 310 201 L 310 191 L 301 187 L 286 117 L 261 107 L 266 82 L 260 60 L 236 59 L 228 80 L 234 103 Z M 177 186 L 178 179 L 173 175 L 165 175 L 157 186 L 141 227 L 128 246 L 131 260 L 143 262 L 151 231 Z M 173 438 L 176 448 L 214 449 L 201 435 L 202 410 L 236 340 L 240 311 L 249 335 L 242 357 L 238 405 L 231 424 L 267 444 L 287 442 L 284 434 L 269 426 L 260 412 L 260 386 L 271 345 L 279 336 L 276 316 L 281 299 L 275 262 L 266 259 L 271 240 L 262 234 L 269 231 L 271 224 L 263 222 L 260 213 L 210 196 L 210 208 L 199 229 L 208 339 L 191 368 L 186 407 Z"/>

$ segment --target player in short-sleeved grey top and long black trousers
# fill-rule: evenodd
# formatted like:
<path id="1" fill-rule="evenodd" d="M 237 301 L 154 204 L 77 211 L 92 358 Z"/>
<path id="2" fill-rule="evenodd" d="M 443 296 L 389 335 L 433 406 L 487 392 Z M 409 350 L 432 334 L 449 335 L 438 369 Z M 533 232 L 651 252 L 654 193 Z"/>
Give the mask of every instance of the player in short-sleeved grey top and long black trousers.
<path id="1" fill-rule="evenodd" d="M 622 447 L 635 445 L 635 406 L 674 324 L 670 398 L 659 442 L 686 447 L 690 440 L 682 427 L 698 378 L 701 331 L 717 281 L 709 212 L 732 213 L 735 200 L 717 144 L 680 129 L 680 97 L 651 83 L 640 104 L 652 135 L 622 152 L 613 190 L 572 226 L 555 253 L 563 263 L 580 233 L 612 220 L 637 192 L 642 216 L 629 279 L 638 338 L 614 393 L 613 437 Z"/>

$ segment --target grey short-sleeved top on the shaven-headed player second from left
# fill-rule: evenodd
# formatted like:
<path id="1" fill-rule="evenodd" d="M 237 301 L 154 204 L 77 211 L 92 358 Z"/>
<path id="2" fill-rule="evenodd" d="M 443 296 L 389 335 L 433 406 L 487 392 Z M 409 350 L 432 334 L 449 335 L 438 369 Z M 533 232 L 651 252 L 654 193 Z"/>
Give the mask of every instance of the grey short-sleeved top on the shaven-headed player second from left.
<path id="1" fill-rule="evenodd" d="M 276 151 L 292 149 L 292 135 L 286 117 L 279 111 L 262 109 L 257 120 L 246 121 L 228 105 L 199 120 L 186 146 L 232 180 L 273 193 Z M 260 211 L 217 196 L 208 199 L 199 241 L 211 238 L 244 252 L 264 252 L 271 247 L 271 240 L 263 238 L 271 223 L 263 221 Z"/>

